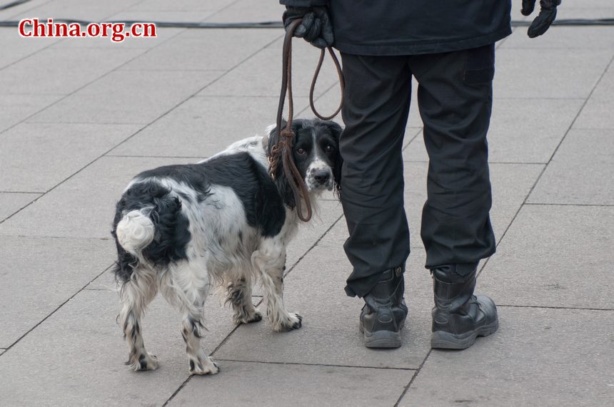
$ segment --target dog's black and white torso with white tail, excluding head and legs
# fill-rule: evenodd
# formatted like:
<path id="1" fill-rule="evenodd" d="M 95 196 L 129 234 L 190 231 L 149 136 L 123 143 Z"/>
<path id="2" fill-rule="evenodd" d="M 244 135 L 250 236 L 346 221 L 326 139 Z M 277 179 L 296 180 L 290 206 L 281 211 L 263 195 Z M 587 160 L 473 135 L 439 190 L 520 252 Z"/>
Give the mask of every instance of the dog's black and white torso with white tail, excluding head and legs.
<path id="1" fill-rule="evenodd" d="M 259 237 L 281 231 L 285 212 L 266 170 L 246 152 L 141 172 L 116 206 L 116 277 L 126 282 L 135 264 L 163 269 L 197 256 L 217 275 L 245 266 Z"/>

